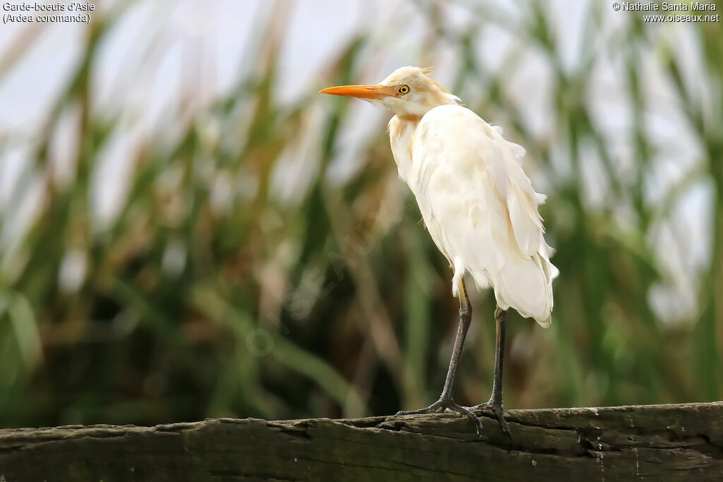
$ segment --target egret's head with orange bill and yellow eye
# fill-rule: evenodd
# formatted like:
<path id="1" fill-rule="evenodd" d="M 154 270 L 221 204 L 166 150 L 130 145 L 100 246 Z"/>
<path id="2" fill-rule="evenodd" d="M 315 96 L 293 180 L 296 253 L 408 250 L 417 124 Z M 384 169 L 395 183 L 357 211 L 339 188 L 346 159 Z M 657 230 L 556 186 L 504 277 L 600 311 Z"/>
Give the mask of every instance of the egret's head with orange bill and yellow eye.
<path id="1" fill-rule="evenodd" d="M 430 79 L 428 71 L 406 66 L 396 69 L 377 85 L 341 85 L 320 92 L 381 103 L 400 117 L 421 117 L 442 104 L 458 103 L 459 98 Z"/>

